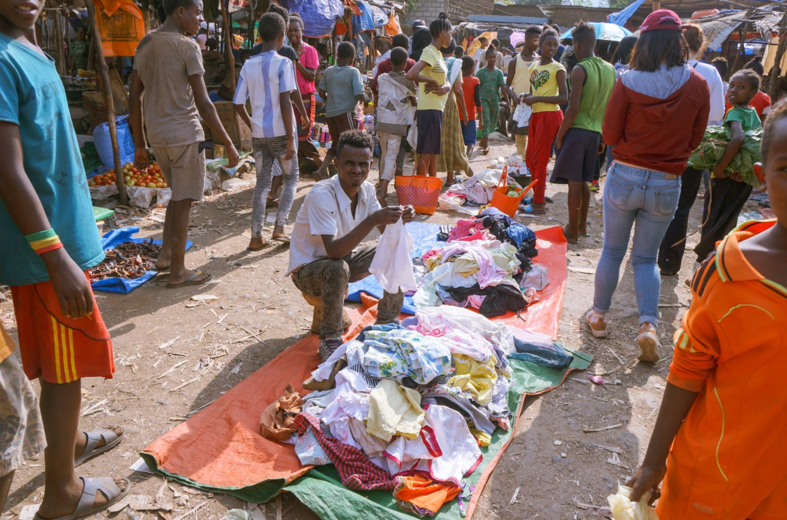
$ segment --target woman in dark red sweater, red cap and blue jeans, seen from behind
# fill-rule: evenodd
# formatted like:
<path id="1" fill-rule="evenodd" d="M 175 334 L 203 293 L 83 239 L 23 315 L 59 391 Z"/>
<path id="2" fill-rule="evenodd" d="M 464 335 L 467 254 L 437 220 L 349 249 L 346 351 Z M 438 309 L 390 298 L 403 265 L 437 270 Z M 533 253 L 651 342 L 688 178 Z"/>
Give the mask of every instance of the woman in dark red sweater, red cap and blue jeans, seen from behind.
<path id="1" fill-rule="evenodd" d="M 630 70 L 612 90 L 604 142 L 614 145 L 604 184 L 604 248 L 596 269 L 593 309 L 586 316 L 595 337 L 606 337 L 607 312 L 634 223 L 634 291 L 640 360 L 660 359 L 656 334 L 661 279 L 659 245 L 678 207 L 680 175 L 708 123 L 708 84 L 687 61 L 681 19 L 669 9 L 645 18 Z"/>

